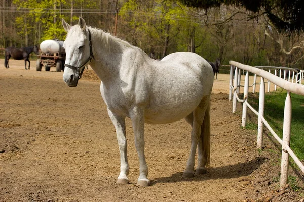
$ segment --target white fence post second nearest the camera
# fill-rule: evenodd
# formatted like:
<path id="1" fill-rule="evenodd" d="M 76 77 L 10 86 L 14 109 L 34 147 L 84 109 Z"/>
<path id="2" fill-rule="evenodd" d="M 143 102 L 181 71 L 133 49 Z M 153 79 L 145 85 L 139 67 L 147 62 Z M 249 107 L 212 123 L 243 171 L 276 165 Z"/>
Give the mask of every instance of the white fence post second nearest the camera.
<path id="1" fill-rule="evenodd" d="M 261 149 L 263 145 L 263 120 L 265 103 L 265 83 L 264 78 L 261 77 L 259 104 L 258 104 L 258 126 L 257 126 L 257 148 Z"/>

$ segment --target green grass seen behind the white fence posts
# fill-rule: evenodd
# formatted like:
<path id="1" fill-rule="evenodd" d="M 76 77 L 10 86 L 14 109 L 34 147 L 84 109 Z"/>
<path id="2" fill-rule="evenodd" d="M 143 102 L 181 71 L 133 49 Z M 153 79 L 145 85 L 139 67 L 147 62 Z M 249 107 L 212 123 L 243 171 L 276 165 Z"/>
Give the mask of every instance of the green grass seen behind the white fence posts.
<path id="1" fill-rule="evenodd" d="M 280 90 L 265 94 L 264 117 L 282 139 L 284 105 L 287 92 Z M 258 96 L 249 95 L 248 102 L 258 109 Z M 292 117 L 290 129 L 290 148 L 300 161 L 304 159 L 304 96 L 291 93 Z M 250 128 L 250 127 L 249 127 Z"/>

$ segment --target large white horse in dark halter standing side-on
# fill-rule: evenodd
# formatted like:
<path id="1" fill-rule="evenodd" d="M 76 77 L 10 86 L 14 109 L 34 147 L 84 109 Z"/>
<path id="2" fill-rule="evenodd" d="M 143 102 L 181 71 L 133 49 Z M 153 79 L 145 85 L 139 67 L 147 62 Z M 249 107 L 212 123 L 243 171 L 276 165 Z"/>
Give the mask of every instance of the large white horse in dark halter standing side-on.
<path id="1" fill-rule="evenodd" d="M 139 157 L 137 185 L 148 186 L 144 156 L 144 123 L 172 123 L 182 118 L 192 126 L 190 155 L 183 177 L 206 173 L 210 163 L 210 95 L 213 70 L 195 53 L 173 53 L 161 61 L 151 59 L 138 47 L 86 26 L 83 18 L 70 26 L 63 47 L 66 52 L 63 80 L 77 86 L 85 66 L 90 64 L 101 79 L 100 92 L 113 122 L 120 150 L 121 167 L 117 183 L 128 184 L 129 164 L 125 118 L 132 120 Z"/>

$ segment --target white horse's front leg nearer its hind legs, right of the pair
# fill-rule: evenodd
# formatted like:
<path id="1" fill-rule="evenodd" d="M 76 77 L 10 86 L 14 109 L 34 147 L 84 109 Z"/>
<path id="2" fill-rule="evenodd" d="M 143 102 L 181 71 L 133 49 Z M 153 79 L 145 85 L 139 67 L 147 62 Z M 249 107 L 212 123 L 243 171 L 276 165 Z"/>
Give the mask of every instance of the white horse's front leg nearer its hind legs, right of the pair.
<path id="1" fill-rule="evenodd" d="M 139 158 L 137 185 L 149 186 L 150 181 L 147 179 L 148 166 L 144 156 L 144 109 L 138 106 L 134 107 L 131 112 L 131 120 L 135 136 L 135 147 Z"/>

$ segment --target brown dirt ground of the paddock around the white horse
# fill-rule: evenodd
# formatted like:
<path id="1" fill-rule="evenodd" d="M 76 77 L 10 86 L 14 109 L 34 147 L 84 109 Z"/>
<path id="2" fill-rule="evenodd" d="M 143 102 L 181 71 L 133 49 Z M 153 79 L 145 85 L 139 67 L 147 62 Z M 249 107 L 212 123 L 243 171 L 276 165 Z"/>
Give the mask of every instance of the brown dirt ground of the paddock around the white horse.
<path id="1" fill-rule="evenodd" d="M 0 201 L 303 201 L 303 175 L 290 167 L 295 186 L 279 188 L 280 146 L 241 128 L 232 113 L 229 75 L 219 74 L 211 96 L 211 165 L 207 174 L 182 178 L 191 128 L 184 121 L 145 126 L 149 187 L 137 187 L 139 164 L 126 120 L 129 185 L 120 171 L 115 129 L 86 70 L 78 87 L 63 72 L 24 70 L 23 61 L 0 60 Z M 293 187 L 293 189 L 291 188 Z"/>

